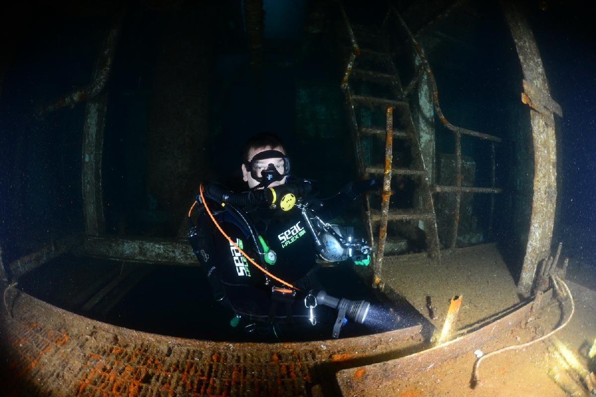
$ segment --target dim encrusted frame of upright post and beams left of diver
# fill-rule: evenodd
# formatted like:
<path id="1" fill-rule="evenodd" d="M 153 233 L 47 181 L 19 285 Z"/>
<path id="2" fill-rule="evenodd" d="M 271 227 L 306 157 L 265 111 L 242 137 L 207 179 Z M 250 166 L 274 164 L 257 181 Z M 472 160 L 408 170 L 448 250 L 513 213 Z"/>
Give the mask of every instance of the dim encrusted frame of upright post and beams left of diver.
<path id="1" fill-rule="evenodd" d="M 47 114 L 87 101 L 81 158 L 83 218 L 86 236 L 70 236 L 52 242 L 33 254 L 6 264 L 7 276 L 14 280 L 67 252 L 118 261 L 198 265 L 185 240 L 101 236 L 105 232 L 101 168 L 107 111 L 106 87 L 111 74 L 123 15 L 124 11 L 117 15 L 107 32 L 103 49 L 97 58 L 92 82 L 83 89 L 75 90 L 54 104 L 42 108 L 44 114 Z"/>

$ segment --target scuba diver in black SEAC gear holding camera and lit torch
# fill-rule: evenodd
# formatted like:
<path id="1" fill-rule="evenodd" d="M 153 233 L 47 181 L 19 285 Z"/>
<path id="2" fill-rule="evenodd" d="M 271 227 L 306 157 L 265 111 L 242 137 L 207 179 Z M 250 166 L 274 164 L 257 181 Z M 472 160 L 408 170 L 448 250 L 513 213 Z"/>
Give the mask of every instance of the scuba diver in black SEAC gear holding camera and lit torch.
<path id="1" fill-rule="evenodd" d="M 316 182 L 291 176 L 286 153 L 271 133 L 252 137 L 241 164 L 250 190 L 201 185 L 193 204 L 198 221 L 190 222 L 188 237 L 215 300 L 235 313 L 232 326 L 244 320 L 249 331 L 272 329 L 277 336 L 280 324 L 293 329 L 315 325 L 317 315 L 325 317 L 315 308 L 327 306 L 337 314 L 331 335 L 339 337 L 348 318 L 364 322 L 370 304 L 327 295 L 316 260 L 369 264 L 372 249 L 354 238 L 353 228 L 329 222 L 361 193 L 380 185 L 361 180 L 331 198 L 316 199 Z"/>

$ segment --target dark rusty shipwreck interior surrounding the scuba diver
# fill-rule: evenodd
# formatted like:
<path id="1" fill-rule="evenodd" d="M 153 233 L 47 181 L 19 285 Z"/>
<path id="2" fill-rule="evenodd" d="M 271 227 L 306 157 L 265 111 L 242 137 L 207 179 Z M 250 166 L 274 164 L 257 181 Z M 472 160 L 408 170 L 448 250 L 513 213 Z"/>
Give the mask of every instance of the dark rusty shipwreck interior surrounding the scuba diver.
<path id="1" fill-rule="evenodd" d="M 596 48 L 579 5 L 12 7 L 0 39 L 7 395 L 596 392 Z M 189 208 L 200 183 L 247 190 L 241 150 L 263 131 L 321 198 L 383 186 L 334 220 L 370 243 L 370 265 L 319 270 L 330 295 L 379 308 L 368 325 L 348 321 L 339 338 L 324 321 L 242 330 L 213 299 Z"/>

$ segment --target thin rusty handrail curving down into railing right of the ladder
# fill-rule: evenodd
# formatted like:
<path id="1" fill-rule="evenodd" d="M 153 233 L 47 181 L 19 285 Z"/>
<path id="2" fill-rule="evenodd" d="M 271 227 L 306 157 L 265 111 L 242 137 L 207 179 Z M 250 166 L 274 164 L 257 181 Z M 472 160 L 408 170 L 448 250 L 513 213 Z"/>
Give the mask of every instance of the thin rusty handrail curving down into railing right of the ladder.
<path id="1" fill-rule="evenodd" d="M 443 115 L 443 111 L 441 110 L 440 105 L 439 105 L 439 93 L 438 93 L 438 89 L 437 89 L 437 83 L 436 83 L 436 80 L 434 79 L 434 74 L 433 74 L 432 69 L 430 68 L 429 61 L 427 61 L 422 49 L 420 48 L 420 45 L 418 45 L 418 42 L 416 41 L 414 35 L 412 35 L 412 32 L 409 30 L 405 21 L 403 21 L 399 12 L 397 10 L 395 10 L 395 8 L 393 8 L 393 7 L 392 7 L 392 11 L 395 13 L 396 18 L 398 18 L 399 22 L 401 23 L 403 30 L 405 30 L 405 32 L 408 34 L 408 37 L 412 43 L 412 46 L 414 46 L 415 52 L 417 52 L 418 57 L 420 57 L 420 61 L 421 61 L 420 64 L 421 64 L 422 68 L 426 71 L 427 76 L 429 77 L 429 84 L 433 91 L 434 110 L 437 113 L 437 117 L 439 117 L 439 120 L 441 121 L 441 123 L 443 123 L 443 125 L 447 129 L 451 130 L 451 132 L 453 132 L 453 134 L 454 134 L 454 138 L 455 138 L 455 175 L 456 175 L 455 186 L 434 186 L 433 190 L 436 193 L 442 193 L 442 192 L 455 193 L 454 223 L 453 223 L 453 228 L 452 228 L 452 232 L 451 232 L 451 242 L 450 242 L 451 248 L 455 248 L 455 245 L 457 243 L 457 232 L 458 232 L 458 229 L 460 226 L 460 207 L 461 207 L 462 193 L 491 193 L 491 196 L 492 196 L 492 199 L 491 199 L 491 224 L 489 226 L 489 229 L 492 229 L 492 212 L 494 211 L 493 210 L 493 207 L 494 207 L 494 204 L 493 204 L 494 196 L 493 195 L 495 193 L 501 193 L 500 189 L 495 188 L 495 183 L 494 183 L 495 162 L 494 161 L 491 162 L 491 167 L 492 167 L 491 174 L 493 175 L 491 189 L 482 188 L 482 187 L 470 188 L 470 187 L 461 186 L 461 136 L 469 135 L 469 136 L 477 137 L 479 139 L 489 140 L 492 145 L 495 142 L 501 142 L 501 138 L 499 138 L 497 136 L 489 135 L 486 133 L 477 132 L 477 131 L 465 129 L 462 127 L 457 127 L 457 126 L 454 126 L 453 124 L 449 123 L 449 121 L 447 120 L 445 115 Z M 494 155 L 493 155 L 493 158 L 494 158 Z"/>

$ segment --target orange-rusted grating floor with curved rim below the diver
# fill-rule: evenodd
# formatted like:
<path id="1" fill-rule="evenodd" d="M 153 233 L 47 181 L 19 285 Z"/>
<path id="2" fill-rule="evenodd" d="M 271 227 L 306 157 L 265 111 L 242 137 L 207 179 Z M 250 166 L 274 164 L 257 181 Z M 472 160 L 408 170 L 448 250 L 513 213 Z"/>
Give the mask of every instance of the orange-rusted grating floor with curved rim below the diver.
<path id="1" fill-rule="evenodd" d="M 325 382 L 351 360 L 421 342 L 420 327 L 319 342 L 210 342 L 100 323 L 14 288 L 6 301 L 13 317 L 0 315 L 0 386 L 8 396 L 333 395 Z"/>

